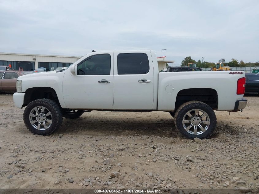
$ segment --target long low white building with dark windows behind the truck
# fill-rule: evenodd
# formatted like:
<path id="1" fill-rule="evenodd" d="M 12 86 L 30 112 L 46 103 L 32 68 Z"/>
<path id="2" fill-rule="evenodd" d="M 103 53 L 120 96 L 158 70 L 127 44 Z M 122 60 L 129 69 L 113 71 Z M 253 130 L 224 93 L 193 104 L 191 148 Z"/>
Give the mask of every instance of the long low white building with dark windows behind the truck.
<path id="1" fill-rule="evenodd" d="M 50 71 L 51 67 L 54 67 L 54 69 L 57 67 L 68 67 L 80 58 L 80 56 L 0 53 L 0 66 L 11 66 L 11 69 L 14 70 L 19 70 L 22 67 L 25 71 L 33 71 L 39 67 L 45 67 L 47 71 Z M 163 60 L 164 57 L 162 60 L 160 58 L 158 58 L 159 71 L 166 68 L 166 63 L 174 62 Z"/>

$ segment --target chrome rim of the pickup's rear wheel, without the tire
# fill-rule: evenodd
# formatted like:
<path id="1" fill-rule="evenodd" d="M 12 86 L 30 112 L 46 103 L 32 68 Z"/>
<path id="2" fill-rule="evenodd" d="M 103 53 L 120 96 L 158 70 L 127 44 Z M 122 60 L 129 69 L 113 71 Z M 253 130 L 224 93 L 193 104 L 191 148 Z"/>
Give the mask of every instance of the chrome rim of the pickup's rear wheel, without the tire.
<path id="1" fill-rule="evenodd" d="M 188 111 L 182 120 L 185 131 L 192 135 L 200 135 L 207 131 L 210 126 L 210 117 L 200 109 Z"/>

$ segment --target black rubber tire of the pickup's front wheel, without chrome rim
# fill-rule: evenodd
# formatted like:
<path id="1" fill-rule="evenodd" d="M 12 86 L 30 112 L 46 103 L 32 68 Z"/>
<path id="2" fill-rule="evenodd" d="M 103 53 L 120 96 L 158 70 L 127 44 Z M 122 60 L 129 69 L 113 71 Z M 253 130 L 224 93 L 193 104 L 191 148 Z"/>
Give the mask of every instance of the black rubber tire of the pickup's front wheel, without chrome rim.
<path id="1" fill-rule="evenodd" d="M 42 104 L 42 105 L 47 105 L 49 107 L 51 107 L 50 109 L 52 109 L 52 116 L 55 116 L 56 119 L 52 121 L 52 126 L 51 126 L 51 130 L 47 130 L 47 131 L 40 131 L 38 130 L 37 133 L 34 131 L 34 127 L 32 127 L 31 125 L 28 125 L 26 123 L 26 115 L 28 113 L 30 113 L 30 110 L 35 107 L 36 104 Z M 49 109 L 49 108 L 48 108 Z M 50 110 L 51 111 L 51 110 Z M 52 133 L 55 132 L 56 129 L 58 129 L 62 123 L 62 111 L 61 111 L 61 107 L 53 100 L 47 99 L 47 98 L 41 98 L 41 99 L 37 99 L 35 101 L 32 101 L 29 103 L 29 105 L 26 106 L 24 113 L 23 113 L 23 120 L 25 123 L 25 126 L 27 127 L 27 129 L 29 129 L 29 131 L 31 131 L 33 134 L 37 134 L 37 135 L 50 135 Z M 31 126 L 31 127 L 30 127 Z"/>

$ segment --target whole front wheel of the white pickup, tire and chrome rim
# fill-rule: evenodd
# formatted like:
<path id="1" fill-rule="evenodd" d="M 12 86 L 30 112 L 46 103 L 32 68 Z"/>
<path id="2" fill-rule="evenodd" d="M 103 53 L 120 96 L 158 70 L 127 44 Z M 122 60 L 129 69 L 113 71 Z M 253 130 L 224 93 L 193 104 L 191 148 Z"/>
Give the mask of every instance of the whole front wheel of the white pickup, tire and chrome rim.
<path id="1" fill-rule="evenodd" d="M 50 99 L 32 101 L 24 110 L 23 120 L 33 134 L 50 135 L 62 123 L 61 107 Z"/>

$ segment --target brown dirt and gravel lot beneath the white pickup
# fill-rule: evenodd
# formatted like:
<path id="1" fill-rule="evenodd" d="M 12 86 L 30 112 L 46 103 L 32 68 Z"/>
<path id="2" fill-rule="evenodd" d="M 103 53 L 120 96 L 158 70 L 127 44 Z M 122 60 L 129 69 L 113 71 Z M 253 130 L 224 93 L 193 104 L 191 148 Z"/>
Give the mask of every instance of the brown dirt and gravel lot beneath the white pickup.
<path id="1" fill-rule="evenodd" d="M 12 94 L 0 94 L 0 188 L 258 192 L 259 97 L 247 98 L 244 112 L 216 112 L 215 134 L 196 143 L 178 135 L 167 112 L 92 111 L 63 119 L 53 135 L 33 135 Z"/>

